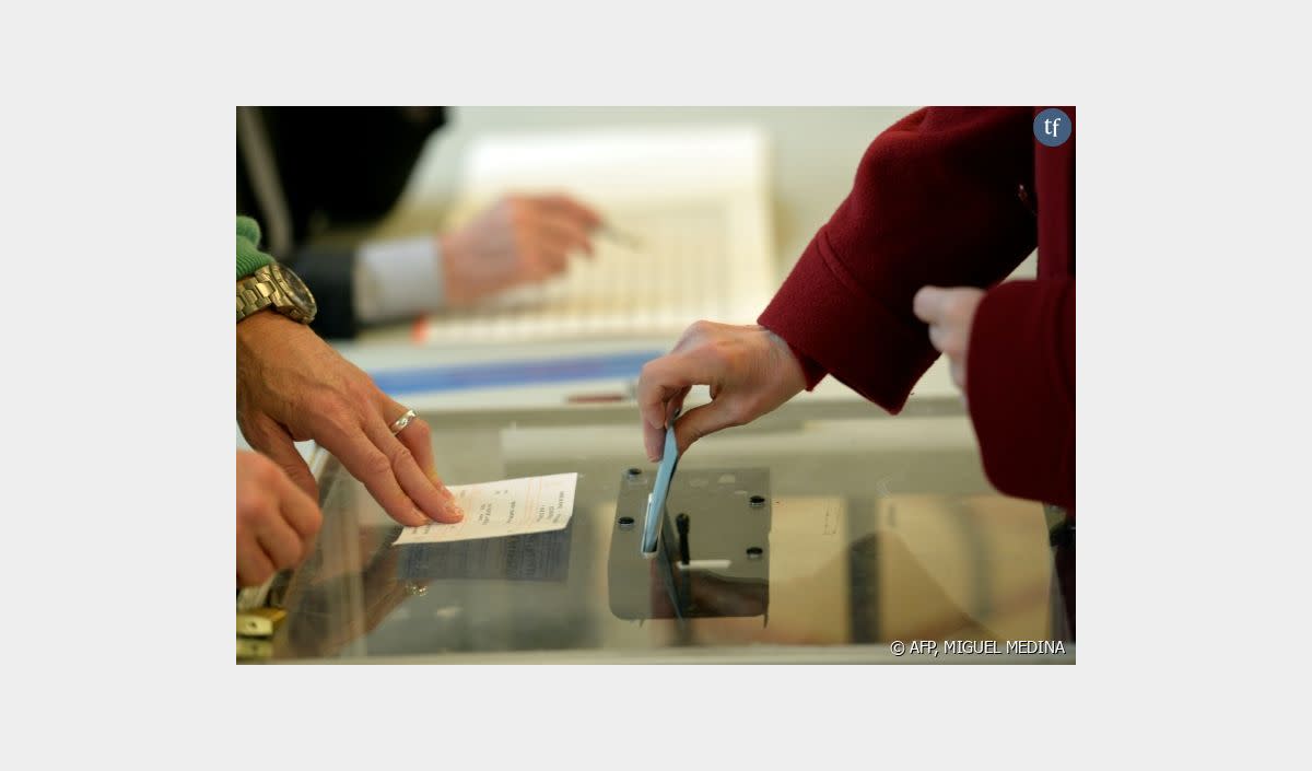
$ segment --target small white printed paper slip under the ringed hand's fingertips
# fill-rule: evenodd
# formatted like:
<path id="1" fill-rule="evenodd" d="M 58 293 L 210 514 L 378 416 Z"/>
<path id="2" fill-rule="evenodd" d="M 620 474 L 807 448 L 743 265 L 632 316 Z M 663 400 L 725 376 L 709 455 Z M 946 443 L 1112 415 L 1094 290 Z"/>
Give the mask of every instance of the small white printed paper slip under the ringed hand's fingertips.
<path id="1" fill-rule="evenodd" d="M 577 473 L 527 476 L 476 485 L 451 485 L 464 519 L 405 527 L 392 545 L 447 543 L 564 530 L 573 515 Z"/>

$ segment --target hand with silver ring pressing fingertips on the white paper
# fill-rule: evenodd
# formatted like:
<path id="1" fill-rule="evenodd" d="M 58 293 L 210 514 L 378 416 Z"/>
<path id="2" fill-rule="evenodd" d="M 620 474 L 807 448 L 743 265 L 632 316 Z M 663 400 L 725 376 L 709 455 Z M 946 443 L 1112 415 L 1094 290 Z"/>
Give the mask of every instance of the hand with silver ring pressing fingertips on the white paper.
<path id="1" fill-rule="evenodd" d="M 392 435 L 392 422 L 404 413 L 304 324 L 273 311 L 237 323 L 237 425 L 252 447 L 318 500 L 315 479 L 293 445 L 314 439 L 396 522 L 459 522 L 463 513 L 433 465 L 428 424 L 413 420 Z"/>

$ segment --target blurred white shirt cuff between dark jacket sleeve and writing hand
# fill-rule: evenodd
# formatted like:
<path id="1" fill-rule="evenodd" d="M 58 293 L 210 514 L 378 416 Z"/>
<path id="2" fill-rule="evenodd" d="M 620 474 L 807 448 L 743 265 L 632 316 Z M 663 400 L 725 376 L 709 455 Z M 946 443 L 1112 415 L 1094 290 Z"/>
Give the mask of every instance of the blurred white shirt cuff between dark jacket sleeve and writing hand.
<path id="1" fill-rule="evenodd" d="M 356 317 L 361 324 L 411 319 L 442 306 L 437 236 L 369 241 L 358 250 L 354 271 Z"/>

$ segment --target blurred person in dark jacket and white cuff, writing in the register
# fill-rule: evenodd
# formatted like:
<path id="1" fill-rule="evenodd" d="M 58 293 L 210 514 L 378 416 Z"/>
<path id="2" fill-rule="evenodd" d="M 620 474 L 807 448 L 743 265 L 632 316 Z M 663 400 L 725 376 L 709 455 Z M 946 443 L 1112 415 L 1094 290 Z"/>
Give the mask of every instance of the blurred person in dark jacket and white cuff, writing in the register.
<path id="1" fill-rule="evenodd" d="M 510 195 L 447 233 L 416 223 L 405 237 L 362 239 L 398 205 L 443 108 L 241 106 L 236 122 L 237 214 L 319 299 L 323 337 L 468 307 L 592 253 L 601 219 L 565 195 Z"/>

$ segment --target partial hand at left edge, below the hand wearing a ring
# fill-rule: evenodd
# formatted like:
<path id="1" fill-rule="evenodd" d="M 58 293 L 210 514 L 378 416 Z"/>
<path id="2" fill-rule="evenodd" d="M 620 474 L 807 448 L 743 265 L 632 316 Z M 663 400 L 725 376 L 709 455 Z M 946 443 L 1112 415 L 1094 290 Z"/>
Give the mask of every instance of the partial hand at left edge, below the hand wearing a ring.
<path id="1" fill-rule="evenodd" d="M 321 522 L 319 504 L 277 463 L 237 451 L 237 586 L 258 586 L 300 564 Z"/>

